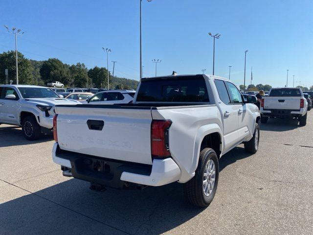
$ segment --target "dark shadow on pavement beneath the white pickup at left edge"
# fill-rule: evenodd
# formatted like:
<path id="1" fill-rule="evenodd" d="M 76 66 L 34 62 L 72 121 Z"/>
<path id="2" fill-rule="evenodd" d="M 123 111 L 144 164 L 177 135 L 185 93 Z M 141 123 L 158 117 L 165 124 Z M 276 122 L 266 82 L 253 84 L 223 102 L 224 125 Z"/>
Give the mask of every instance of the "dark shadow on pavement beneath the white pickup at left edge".
<path id="1" fill-rule="evenodd" d="M 52 135 L 42 135 L 39 140 L 28 141 L 24 138 L 20 126 L 0 126 L 0 147 L 17 146 L 52 141 Z"/>

